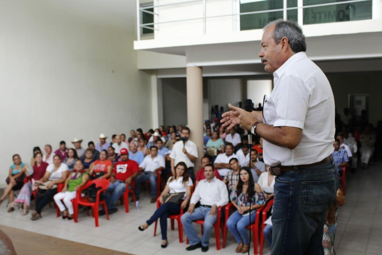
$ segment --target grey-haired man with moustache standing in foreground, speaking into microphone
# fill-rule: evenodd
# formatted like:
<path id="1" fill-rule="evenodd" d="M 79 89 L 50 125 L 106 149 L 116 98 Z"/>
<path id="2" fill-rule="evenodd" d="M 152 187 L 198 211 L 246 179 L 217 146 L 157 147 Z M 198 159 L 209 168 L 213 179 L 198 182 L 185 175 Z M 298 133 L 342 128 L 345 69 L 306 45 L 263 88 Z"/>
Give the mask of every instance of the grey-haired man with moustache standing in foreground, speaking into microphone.
<path id="1" fill-rule="evenodd" d="M 274 76 L 263 112 L 229 105 L 223 126 L 240 124 L 263 138 L 264 162 L 275 178 L 272 254 L 322 255 L 326 211 L 338 173 L 331 154 L 335 134 L 332 88 L 305 54 L 301 28 L 276 20 L 264 28 L 259 57 Z"/>

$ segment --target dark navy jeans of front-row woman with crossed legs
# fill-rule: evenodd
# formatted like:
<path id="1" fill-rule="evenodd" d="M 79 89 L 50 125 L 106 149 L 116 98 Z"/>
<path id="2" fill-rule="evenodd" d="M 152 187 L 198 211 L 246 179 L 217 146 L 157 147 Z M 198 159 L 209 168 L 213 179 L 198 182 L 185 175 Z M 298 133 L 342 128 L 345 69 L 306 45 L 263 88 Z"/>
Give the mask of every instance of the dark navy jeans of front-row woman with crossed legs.
<path id="1" fill-rule="evenodd" d="M 162 204 L 146 221 L 147 225 L 153 224 L 158 218 L 160 218 L 160 233 L 162 234 L 162 240 L 167 240 L 167 217 L 173 214 L 180 214 L 180 204 L 164 203 Z"/>

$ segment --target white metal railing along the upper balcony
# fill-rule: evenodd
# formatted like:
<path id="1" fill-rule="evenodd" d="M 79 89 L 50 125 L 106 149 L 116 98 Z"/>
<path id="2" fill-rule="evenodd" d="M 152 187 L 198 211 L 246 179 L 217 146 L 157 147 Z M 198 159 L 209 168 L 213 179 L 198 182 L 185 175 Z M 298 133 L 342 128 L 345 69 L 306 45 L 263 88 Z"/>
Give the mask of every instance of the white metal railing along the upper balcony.
<path id="1" fill-rule="evenodd" d="M 239 1 L 239 0 L 233 0 L 233 1 Z M 207 16 L 206 15 L 206 2 L 207 2 L 207 0 L 184 0 L 181 2 L 167 3 L 167 4 L 161 4 L 161 5 L 150 5 L 150 6 L 144 6 L 144 7 L 141 7 L 139 0 L 136 0 L 136 2 L 137 2 L 138 41 L 141 40 L 141 28 L 147 28 L 147 29 L 151 29 L 153 31 L 155 31 L 155 30 L 159 31 L 158 28 L 155 28 L 155 25 L 167 24 L 167 23 L 176 23 L 176 22 L 182 22 L 182 21 L 203 20 L 203 34 L 206 34 L 207 19 L 222 18 L 222 17 L 229 17 L 229 16 L 251 15 L 251 14 L 258 14 L 258 13 L 270 13 L 270 12 L 276 12 L 276 11 L 283 11 L 283 19 L 286 20 L 287 11 L 297 10 L 298 11 L 297 22 L 301 26 L 301 25 L 303 25 L 303 10 L 305 8 L 324 7 L 324 6 L 330 6 L 330 5 L 341 5 L 341 4 L 346 4 L 346 3 L 372 2 L 372 19 L 378 19 L 379 18 L 379 0 L 347 0 L 347 1 L 342 1 L 342 2 L 321 3 L 321 4 L 315 4 L 315 5 L 303 5 L 303 0 L 298 0 L 297 1 L 298 6 L 296 6 L 296 7 L 287 7 L 286 1 L 287 0 L 283 0 L 283 8 L 278 8 L 278 9 L 261 10 L 261 11 L 248 11 L 248 12 L 241 12 L 241 13 L 239 12 L 239 13 L 225 14 L 225 15 Z M 202 3 L 202 16 L 201 17 L 141 24 L 141 11 L 145 12 L 145 13 L 150 13 L 152 15 L 159 16 L 159 13 L 155 13 L 155 8 L 170 7 L 170 6 L 174 6 L 174 5 L 186 5 L 189 3 L 197 3 L 197 2 Z M 154 12 L 147 11 L 147 9 L 154 9 Z"/>

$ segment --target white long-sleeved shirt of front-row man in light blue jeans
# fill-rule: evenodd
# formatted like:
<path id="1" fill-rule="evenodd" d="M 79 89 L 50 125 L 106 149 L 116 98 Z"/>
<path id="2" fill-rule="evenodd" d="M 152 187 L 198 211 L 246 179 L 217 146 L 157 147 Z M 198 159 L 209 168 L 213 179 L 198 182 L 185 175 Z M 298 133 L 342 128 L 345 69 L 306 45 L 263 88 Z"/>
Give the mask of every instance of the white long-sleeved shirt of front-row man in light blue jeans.
<path id="1" fill-rule="evenodd" d="M 208 182 L 207 179 L 199 181 L 191 196 L 190 204 L 196 204 L 198 201 L 202 205 L 213 206 L 216 204 L 217 207 L 228 204 L 227 185 L 216 177 L 211 182 Z"/>

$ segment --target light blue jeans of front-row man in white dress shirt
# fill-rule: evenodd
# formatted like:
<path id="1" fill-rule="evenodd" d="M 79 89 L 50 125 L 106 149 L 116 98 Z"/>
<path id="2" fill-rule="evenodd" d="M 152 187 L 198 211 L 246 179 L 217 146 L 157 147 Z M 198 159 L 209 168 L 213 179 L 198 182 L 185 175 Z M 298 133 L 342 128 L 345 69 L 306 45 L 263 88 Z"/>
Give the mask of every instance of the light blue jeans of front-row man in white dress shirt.
<path id="1" fill-rule="evenodd" d="M 210 236 L 212 233 L 212 229 L 214 229 L 214 224 L 216 222 L 217 216 L 210 215 L 209 212 L 211 208 L 200 206 L 195 209 L 193 213 L 186 212 L 180 218 L 183 224 L 183 228 L 185 229 L 186 235 L 191 245 L 198 244 L 202 242 L 203 246 L 208 246 L 210 243 Z M 204 219 L 203 224 L 203 236 L 200 240 L 196 234 L 196 230 L 192 225 L 193 221 L 197 221 L 200 219 Z"/>

